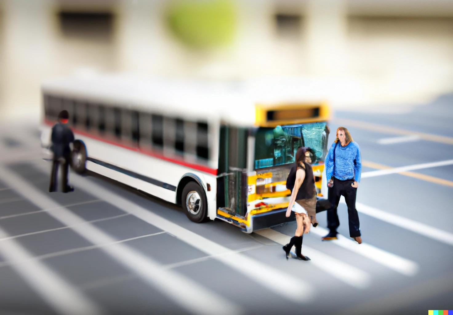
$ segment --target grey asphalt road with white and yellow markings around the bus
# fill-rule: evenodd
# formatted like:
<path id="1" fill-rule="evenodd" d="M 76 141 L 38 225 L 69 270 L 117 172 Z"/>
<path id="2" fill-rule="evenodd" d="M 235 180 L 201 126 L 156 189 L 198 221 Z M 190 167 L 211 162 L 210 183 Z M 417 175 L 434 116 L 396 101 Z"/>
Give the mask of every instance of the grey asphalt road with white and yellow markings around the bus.
<path id="1" fill-rule="evenodd" d="M 295 223 L 244 234 L 106 178 L 48 193 L 36 130 L 0 134 L 2 314 L 427 314 L 453 309 L 453 96 L 406 114 L 337 112 L 361 148 L 362 240 Z M 329 147 L 334 137 L 329 137 Z M 398 168 L 402 167 L 402 168 Z M 342 200 L 344 200 L 342 198 Z"/>

